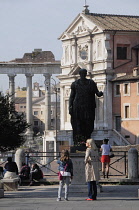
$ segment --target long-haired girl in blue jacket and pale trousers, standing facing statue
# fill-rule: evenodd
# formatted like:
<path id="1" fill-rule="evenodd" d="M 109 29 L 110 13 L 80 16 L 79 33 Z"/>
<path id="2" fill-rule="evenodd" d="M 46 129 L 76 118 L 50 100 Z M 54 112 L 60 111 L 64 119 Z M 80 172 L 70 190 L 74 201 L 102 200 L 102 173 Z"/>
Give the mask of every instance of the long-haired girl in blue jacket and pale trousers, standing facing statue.
<path id="1" fill-rule="evenodd" d="M 61 158 L 57 161 L 59 164 L 59 172 L 62 175 L 62 180 L 59 181 L 58 198 L 57 201 L 61 201 L 61 194 L 63 186 L 65 184 L 65 201 L 68 201 L 69 182 L 73 177 L 73 164 L 69 157 L 69 151 L 63 150 L 61 152 Z"/>

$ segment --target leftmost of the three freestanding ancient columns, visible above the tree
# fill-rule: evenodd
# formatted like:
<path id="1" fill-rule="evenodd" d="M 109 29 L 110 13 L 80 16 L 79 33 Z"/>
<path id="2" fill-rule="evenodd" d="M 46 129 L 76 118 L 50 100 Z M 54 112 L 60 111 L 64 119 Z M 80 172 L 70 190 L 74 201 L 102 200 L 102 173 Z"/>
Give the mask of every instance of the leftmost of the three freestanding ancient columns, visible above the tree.
<path id="1" fill-rule="evenodd" d="M 9 77 L 9 100 L 14 101 L 15 97 L 15 76 L 16 74 L 8 74 Z"/>

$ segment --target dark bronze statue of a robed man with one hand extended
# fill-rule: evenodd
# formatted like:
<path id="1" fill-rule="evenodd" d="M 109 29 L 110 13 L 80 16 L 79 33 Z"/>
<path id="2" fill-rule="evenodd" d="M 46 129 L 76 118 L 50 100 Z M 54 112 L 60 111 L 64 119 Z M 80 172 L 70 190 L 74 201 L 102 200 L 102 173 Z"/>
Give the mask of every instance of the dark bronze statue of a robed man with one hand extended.
<path id="1" fill-rule="evenodd" d="M 73 141 L 77 145 L 81 141 L 91 138 L 95 120 L 95 94 L 103 95 L 92 79 L 86 79 L 87 70 L 79 70 L 80 79 L 71 84 L 69 98 L 69 114 L 73 129 Z"/>

